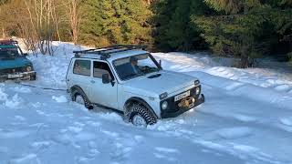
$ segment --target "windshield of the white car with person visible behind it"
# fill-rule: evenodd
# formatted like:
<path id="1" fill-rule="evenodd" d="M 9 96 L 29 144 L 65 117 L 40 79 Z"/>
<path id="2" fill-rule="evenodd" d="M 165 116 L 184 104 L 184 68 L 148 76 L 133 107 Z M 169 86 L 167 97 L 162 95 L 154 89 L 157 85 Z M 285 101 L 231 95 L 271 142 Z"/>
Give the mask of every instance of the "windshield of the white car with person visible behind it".
<path id="1" fill-rule="evenodd" d="M 149 54 L 120 58 L 115 60 L 113 65 L 122 80 L 141 77 L 160 70 Z"/>

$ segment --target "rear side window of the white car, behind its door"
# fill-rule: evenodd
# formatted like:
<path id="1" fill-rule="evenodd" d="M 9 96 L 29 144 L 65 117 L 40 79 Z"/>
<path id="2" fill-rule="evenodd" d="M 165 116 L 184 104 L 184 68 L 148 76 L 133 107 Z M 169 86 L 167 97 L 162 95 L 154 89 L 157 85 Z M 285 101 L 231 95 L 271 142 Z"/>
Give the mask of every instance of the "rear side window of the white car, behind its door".
<path id="1" fill-rule="evenodd" d="M 73 73 L 77 75 L 90 77 L 90 60 L 75 60 Z"/>

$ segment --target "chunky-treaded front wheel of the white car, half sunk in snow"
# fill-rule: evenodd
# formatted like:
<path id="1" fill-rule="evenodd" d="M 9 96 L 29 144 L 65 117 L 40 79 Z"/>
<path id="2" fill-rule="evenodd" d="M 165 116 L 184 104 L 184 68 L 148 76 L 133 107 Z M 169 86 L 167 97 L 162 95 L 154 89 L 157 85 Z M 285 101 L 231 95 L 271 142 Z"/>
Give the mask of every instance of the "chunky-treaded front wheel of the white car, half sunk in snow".
<path id="1" fill-rule="evenodd" d="M 133 104 L 130 107 L 130 122 L 137 127 L 147 127 L 157 122 L 148 108 L 140 104 Z"/>

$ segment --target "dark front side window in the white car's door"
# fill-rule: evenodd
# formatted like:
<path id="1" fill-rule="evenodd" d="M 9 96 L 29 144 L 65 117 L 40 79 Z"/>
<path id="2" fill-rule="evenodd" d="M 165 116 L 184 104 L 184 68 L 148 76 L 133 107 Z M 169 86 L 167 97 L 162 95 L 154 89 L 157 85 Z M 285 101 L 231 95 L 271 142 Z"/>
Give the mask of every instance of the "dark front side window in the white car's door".
<path id="1" fill-rule="evenodd" d="M 103 74 L 110 75 L 110 80 L 114 79 L 110 71 L 110 66 L 107 63 L 94 61 L 93 62 L 93 77 L 102 78 Z"/>

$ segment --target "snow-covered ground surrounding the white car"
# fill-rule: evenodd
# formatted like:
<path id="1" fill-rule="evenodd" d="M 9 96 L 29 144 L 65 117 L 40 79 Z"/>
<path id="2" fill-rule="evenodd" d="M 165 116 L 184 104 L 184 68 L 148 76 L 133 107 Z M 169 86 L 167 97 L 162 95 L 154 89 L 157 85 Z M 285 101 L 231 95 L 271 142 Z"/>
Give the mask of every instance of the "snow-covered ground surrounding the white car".
<path id="1" fill-rule="evenodd" d="M 178 118 L 135 128 L 116 113 L 89 112 L 69 100 L 73 49 L 29 56 L 26 87 L 0 84 L 0 164 L 292 163 L 292 74 L 281 68 L 224 67 L 215 57 L 154 53 L 167 70 L 199 77 L 206 102 Z"/>

